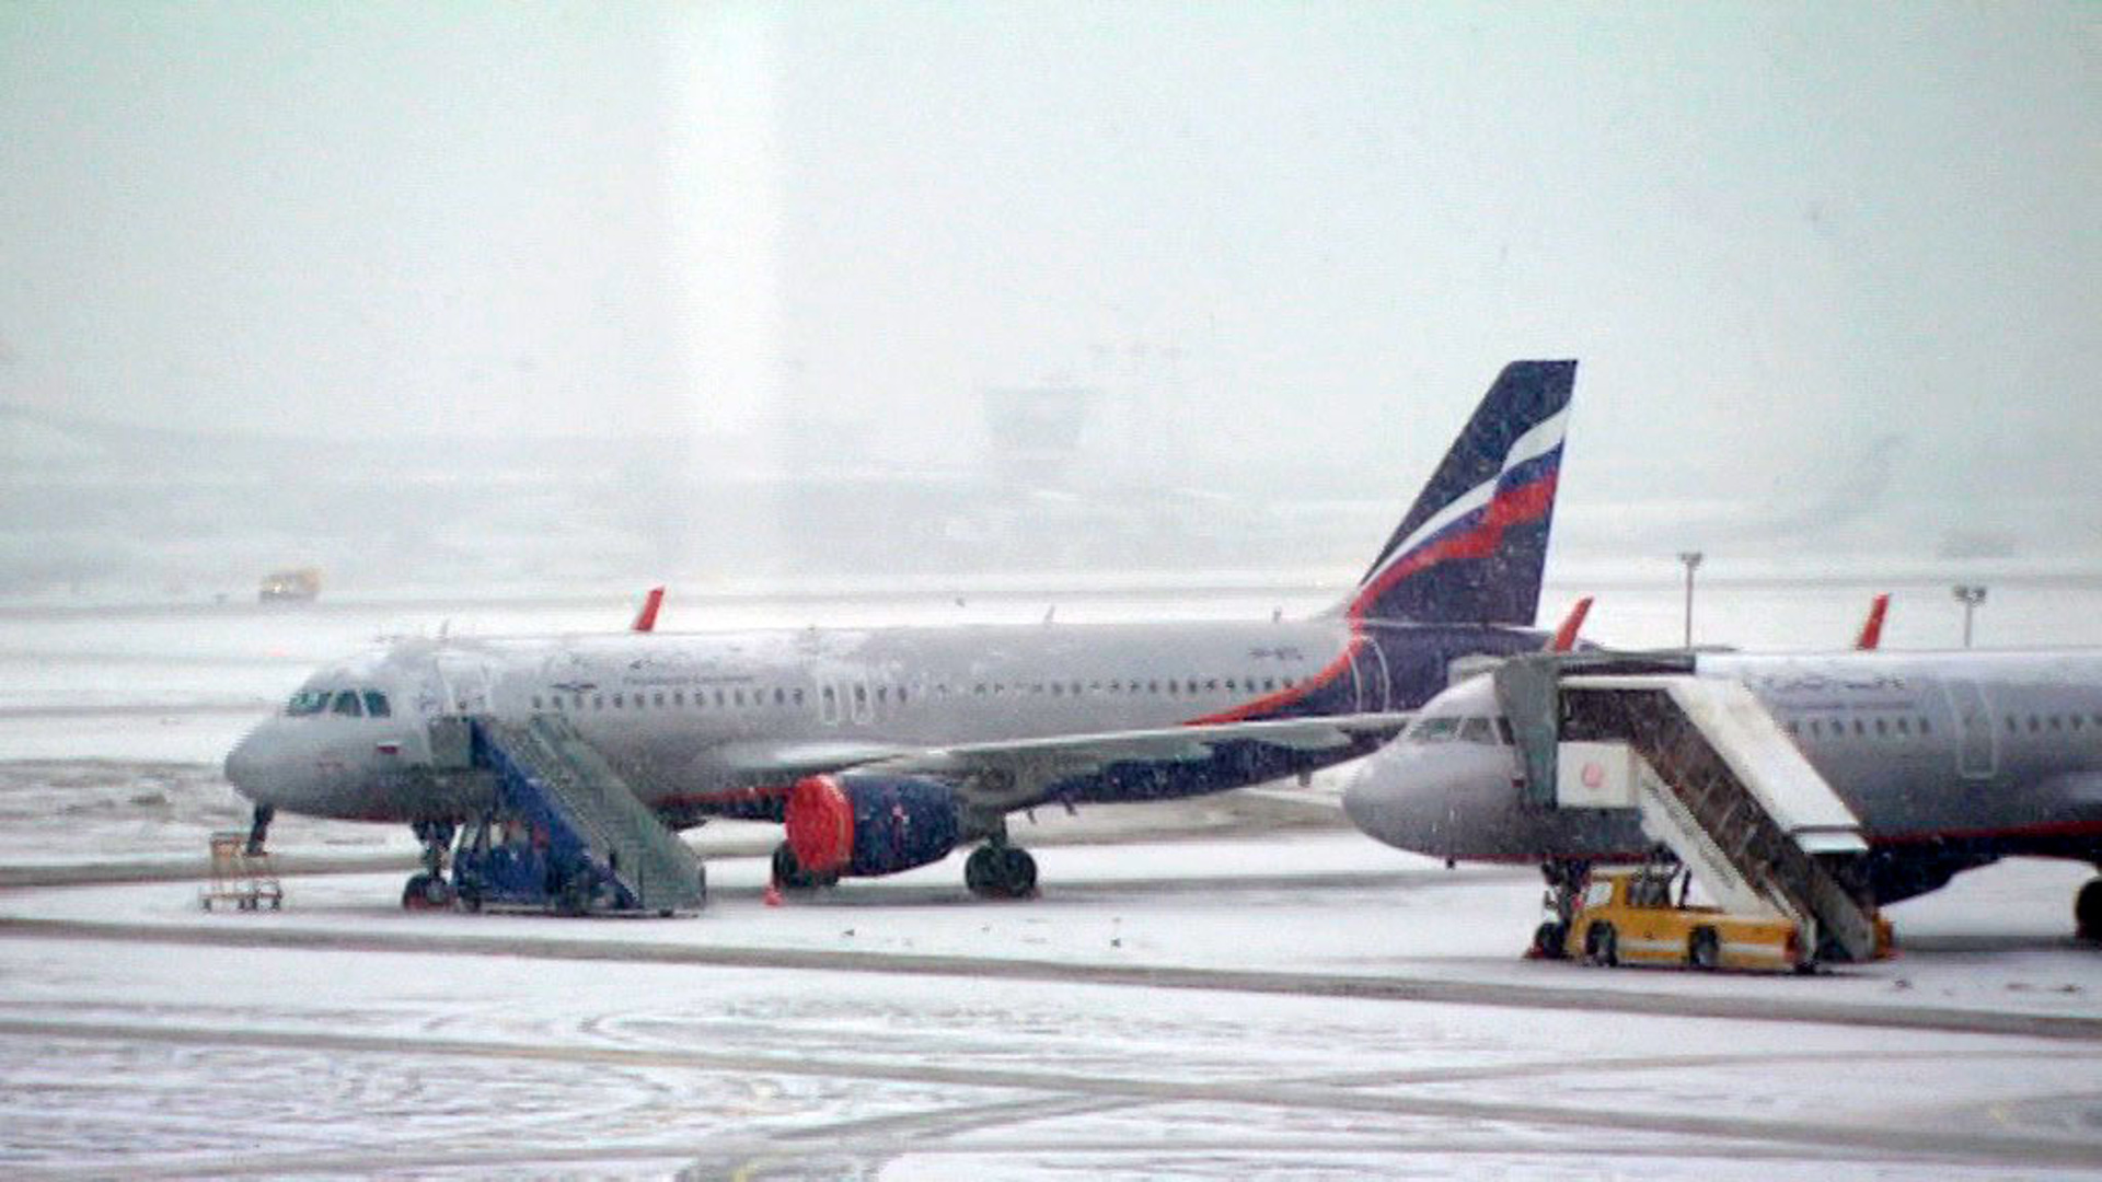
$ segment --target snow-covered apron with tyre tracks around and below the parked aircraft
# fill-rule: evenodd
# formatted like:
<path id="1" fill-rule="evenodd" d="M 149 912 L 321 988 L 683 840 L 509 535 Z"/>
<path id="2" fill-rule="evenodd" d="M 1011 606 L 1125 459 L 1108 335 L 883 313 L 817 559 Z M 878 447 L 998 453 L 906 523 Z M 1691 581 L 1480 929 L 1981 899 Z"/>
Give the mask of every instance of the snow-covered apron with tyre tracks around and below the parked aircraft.
<path id="1" fill-rule="evenodd" d="M 767 835 L 719 829 L 689 919 L 408 915 L 391 869 L 204 913 L 244 702 L 370 623 L 282 618 L 0 620 L 8 1178 L 2102 1178 L 2087 869 L 2054 862 L 1816 978 L 1524 961 L 1532 873 L 1293 789 L 1047 816 L 1022 904 L 950 860 L 767 906 Z M 40 885 L 95 867 L 162 877 Z"/>

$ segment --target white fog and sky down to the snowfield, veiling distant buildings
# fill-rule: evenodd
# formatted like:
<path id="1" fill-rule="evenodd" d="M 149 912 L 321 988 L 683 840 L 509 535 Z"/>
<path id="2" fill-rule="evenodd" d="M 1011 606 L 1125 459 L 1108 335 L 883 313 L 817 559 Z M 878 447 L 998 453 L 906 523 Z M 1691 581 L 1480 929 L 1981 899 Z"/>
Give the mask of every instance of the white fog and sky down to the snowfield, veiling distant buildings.
<path id="1" fill-rule="evenodd" d="M 2102 572 L 2087 4 L 0 8 L 0 593 Z"/>

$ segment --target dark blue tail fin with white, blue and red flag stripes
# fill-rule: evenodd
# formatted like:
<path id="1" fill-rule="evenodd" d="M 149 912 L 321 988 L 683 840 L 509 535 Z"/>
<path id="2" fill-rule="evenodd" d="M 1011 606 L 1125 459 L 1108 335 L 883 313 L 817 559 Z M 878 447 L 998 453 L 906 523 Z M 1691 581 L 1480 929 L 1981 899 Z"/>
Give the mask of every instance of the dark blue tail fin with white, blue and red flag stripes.
<path id="1" fill-rule="evenodd" d="M 1352 595 L 1349 618 L 1530 625 L 1576 362 L 1511 362 Z"/>

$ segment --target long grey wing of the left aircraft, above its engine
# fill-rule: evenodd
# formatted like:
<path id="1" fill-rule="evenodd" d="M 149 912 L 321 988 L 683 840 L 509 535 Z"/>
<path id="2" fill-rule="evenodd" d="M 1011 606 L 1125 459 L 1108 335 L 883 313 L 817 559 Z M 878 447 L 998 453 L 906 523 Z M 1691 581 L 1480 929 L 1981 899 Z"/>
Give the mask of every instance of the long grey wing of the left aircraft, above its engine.
<path id="1" fill-rule="evenodd" d="M 1114 730 L 935 747 L 858 768 L 948 780 L 967 806 L 1007 812 L 1062 801 L 1183 797 L 1276 780 L 1368 755 L 1404 726 L 1404 713 L 1362 713 Z"/>

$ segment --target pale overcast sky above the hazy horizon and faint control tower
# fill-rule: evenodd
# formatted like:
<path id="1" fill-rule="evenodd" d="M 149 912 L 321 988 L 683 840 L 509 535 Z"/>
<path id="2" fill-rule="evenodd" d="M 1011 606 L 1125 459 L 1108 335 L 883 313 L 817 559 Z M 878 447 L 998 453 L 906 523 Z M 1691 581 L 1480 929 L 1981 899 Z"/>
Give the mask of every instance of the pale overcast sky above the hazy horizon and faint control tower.
<path id="1" fill-rule="evenodd" d="M 15 0 L 0 95 L 0 402 L 935 461 L 1127 383 L 1379 488 L 1574 355 L 1572 494 L 2102 503 L 2094 4 Z"/>

